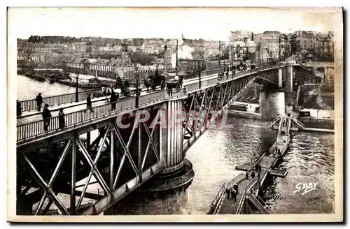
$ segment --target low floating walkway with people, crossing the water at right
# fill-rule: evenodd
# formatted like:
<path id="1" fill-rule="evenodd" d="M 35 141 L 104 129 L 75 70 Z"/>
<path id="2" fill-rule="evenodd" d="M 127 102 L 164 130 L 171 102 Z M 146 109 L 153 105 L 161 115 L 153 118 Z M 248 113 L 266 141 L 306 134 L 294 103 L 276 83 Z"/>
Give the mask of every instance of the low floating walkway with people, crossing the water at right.
<path id="1" fill-rule="evenodd" d="M 264 207 L 263 201 L 258 200 L 258 192 L 260 187 L 265 182 L 267 175 L 276 175 L 279 177 L 286 177 L 286 170 L 279 170 L 274 168 L 277 161 L 286 154 L 289 145 L 290 126 L 293 122 L 290 116 L 281 116 L 279 119 L 272 121 L 270 126 L 273 126 L 279 121 L 279 133 L 276 142 L 272 147 L 262 154 L 254 165 L 239 165 L 237 170 L 245 171 L 227 184 L 223 184 L 216 198 L 211 203 L 209 214 L 244 214 L 247 212 L 255 212 L 256 209 L 262 214 L 269 214 L 269 211 Z M 255 165 L 260 165 L 260 170 Z M 251 172 L 255 173 L 252 177 Z M 238 186 L 238 193 L 236 200 L 226 194 L 227 189 L 232 189 L 234 184 Z"/>

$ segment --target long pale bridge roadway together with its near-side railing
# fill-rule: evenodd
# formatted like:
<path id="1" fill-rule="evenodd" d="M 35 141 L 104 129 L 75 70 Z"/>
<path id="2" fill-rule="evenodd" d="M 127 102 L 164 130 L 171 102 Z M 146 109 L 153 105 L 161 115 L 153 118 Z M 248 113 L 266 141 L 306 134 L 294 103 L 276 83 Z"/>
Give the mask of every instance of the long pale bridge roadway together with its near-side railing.
<path id="1" fill-rule="evenodd" d="M 205 89 L 207 87 L 216 87 L 218 83 L 228 82 L 230 80 L 237 80 L 242 77 L 246 77 L 246 75 L 256 74 L 259 71 L 268 71 L 269 69 L 270 68 L 263 68 L 260 70 L 253 69 L 253 71 L 248 69 L 248 71 L 237 71 L 235 74 L 229 74 L 223 77 L 218 77 L 218 74 L 214 73 L 212 75 L 203 76 L 201 78 L 202 84 L 199 84 L 200 79 L 198 77 L 188 79 L 183 82 L 183 89 L 173 89 L 172 95 L 168 94 L 167 91 L 154 91 L 152 94 L 147 94 L 146 91 L 144 91 L 139 98 L 139 105 L 140 107 L 149 106 L 150 104 L 160 103 L 160 101 L 162 100 L 183 97 L 186 96 L 186 94 L 190 94 L 195 91 Z M 243 83 L 241 84 L 241 86 L 244 86 Z M 246 85 L 241 89 L 244 89 L 245 87 Z M 241 91 L 237 91 L 237 96 L 239 96 L 240 92 Z M 72 96 L 72 94 L 69 94 L 70 99 Z M 84 95 L 82 94 L 82 96 Z M 93 112 L 90 113 L 90 111 L 87 110 L 88 114 L 84 112 L 86 110 L 86 104 L 84 104 L 84 101 L 78 103 L 78 105 L 76 106 L 67 106 L 64 110 L 64 128 L 59 128 L 57 108 L 50 109 L 53 113 L 52 118 L 47 119 L 48 121 L 43 121 L 41 114 L 38 114 L 38 112 L 33 111 L 34 115 L 18 119 L 17 141 L 28 142 L 29 140 L 33 139 L 38 140 L 38 138 L 41 138 L 42 136 L 45 136 L 45 138 L 47 138 L 48 135 L 59 133 L 62 130 L 66 131 L 67 128 L 77 128 L 78 124 L 86 124 L 87 121 L 89 121 L 89 123 L 91 123 L 92 121 L 97 122 L 97 119 L 104 119 L 106 116 L 116 115 L 118 112 L 125 112 L 126 110 L 137 109 L 136 101 L 134 98 L 120 99 L 116 103 L 115 110 L 111 110 L 111 104 L 104 104 L 105 102 L 106 100 L 101 100 L 92 103 Z"/>

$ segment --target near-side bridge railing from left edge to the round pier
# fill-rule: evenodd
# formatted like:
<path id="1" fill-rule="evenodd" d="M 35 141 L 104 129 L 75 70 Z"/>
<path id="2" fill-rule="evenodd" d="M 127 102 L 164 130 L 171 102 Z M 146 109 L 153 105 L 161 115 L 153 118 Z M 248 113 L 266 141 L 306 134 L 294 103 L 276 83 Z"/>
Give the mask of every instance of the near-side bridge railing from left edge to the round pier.
<path id="1" fill-rule="evenodd" d="M 186 88 L 183 89 L 173 89 L 174 96 L 171 98 L 176 98 L 179 96 L 186 96 Z M 146 105 L 148 103 L 154 103 L 156 101 L 162 101 L 167 97 L 167 91 L 156 91 L 144 96 L 139 96 L 139 105 Z M 116 108 L 112 110 L 112 103 L 106 103 L 104 105 L 98 105 L 93 108 L 88 108 L 86 110 L 79 110 L 76 112 L 64 114 L 64 128 L 59 128 L 59 117 L 51 117 L 49 119 L 32 121 L 27 124 L 22 124 L 17 126 L 17 140 L 26 140 L 28 138 L 36 138 L 38 135 L 43 135 L 45 133 L 55 133 L 59 130 L 64 130 L 69 127 L 76 126 L 78 124 L 83 124 L 87 121 L 92 121 L 94 119 L 104 118 L 111 114 L 116 114 L 124 110 L 130 110 L 135 108 L 136 98 L 126 98 L 121 101 L 116 102 Z M 48 122 L 47 131 L 44 130 L 45 122 Z"/>

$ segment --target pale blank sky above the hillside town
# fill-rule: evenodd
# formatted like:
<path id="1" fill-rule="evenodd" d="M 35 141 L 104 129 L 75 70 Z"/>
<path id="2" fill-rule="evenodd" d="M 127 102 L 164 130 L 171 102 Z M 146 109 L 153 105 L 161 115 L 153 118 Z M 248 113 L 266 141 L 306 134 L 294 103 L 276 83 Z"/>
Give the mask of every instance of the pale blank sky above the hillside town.
<path id="1" fill-rule="evenodd" d="M 179 38 L 183 33 L 185 38 L 228 40 L 234 30 L 327 33 L 335 23 L 329 12 L 315 8 L 10 8 L 8 27 L 16 38 Z"/>

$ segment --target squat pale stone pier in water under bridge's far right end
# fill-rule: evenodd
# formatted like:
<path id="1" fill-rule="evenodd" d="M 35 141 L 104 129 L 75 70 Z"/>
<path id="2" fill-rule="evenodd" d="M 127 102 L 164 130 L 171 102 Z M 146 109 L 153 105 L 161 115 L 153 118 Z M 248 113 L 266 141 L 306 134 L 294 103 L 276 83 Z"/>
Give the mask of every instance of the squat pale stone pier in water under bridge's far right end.
<path id="1" fill-rule="evenodd" d="M 277 117 L 279 114 L 284 114 L 284 91 L 260 90 L 259 105 L 262 115 Z"/>

